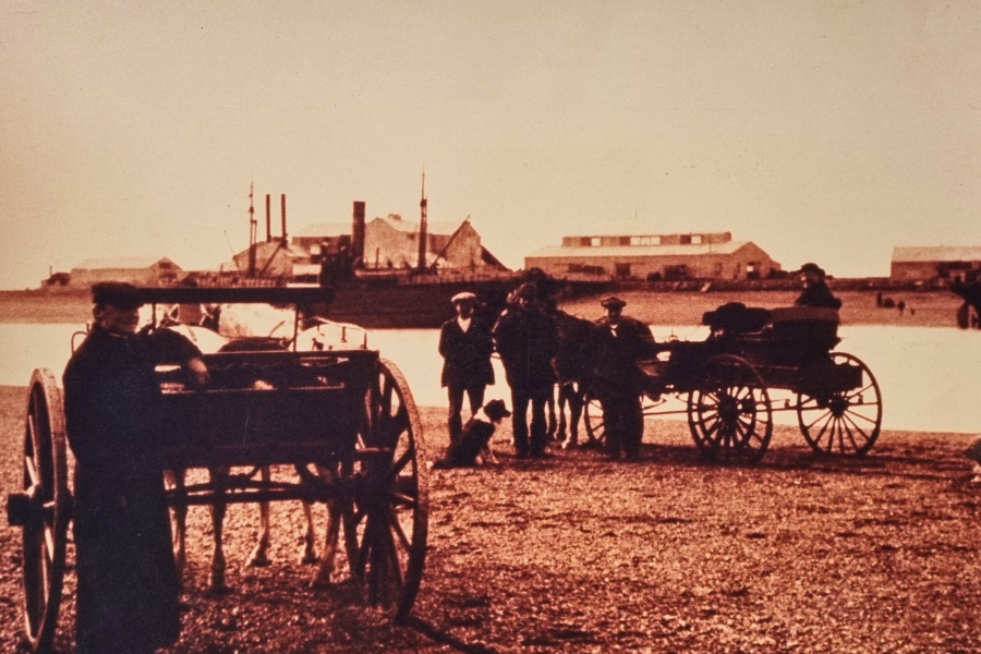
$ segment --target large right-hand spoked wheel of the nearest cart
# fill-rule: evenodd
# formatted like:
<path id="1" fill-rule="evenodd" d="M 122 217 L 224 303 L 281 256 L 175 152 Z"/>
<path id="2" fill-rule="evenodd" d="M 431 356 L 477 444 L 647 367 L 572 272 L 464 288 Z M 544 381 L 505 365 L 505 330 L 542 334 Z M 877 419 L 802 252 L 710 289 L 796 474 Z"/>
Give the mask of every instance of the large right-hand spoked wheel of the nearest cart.
<path id="1" fill-rule="evenodd" d="M 426 556 L 425 449 L 402 373 L 385 360 L 376 365 L 355 457 L 342 469 L 344 476 L 358 480 L 342 509 L 344 543 L 351 577 L 364 601 L 402 619 L 412 610 Z M 365 448 L 383 453 L 358 456 Z"/>

